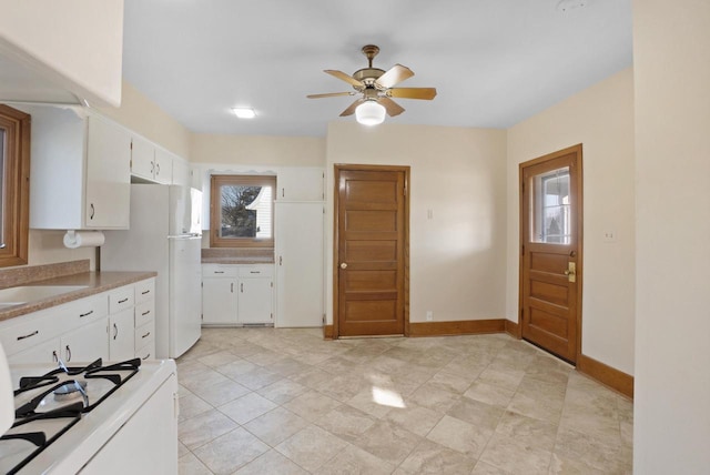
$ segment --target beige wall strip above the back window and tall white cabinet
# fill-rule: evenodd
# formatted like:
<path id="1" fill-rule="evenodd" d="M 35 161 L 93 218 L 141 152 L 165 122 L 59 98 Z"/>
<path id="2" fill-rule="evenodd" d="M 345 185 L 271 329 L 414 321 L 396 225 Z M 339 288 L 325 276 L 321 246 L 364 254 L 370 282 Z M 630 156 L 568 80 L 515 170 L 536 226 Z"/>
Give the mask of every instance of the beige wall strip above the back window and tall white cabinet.
<path id="1" fill-rule="evenodd" d="M 195 164 L 323 166 L 325 139 L 194 133 L 190 160 Z"/>

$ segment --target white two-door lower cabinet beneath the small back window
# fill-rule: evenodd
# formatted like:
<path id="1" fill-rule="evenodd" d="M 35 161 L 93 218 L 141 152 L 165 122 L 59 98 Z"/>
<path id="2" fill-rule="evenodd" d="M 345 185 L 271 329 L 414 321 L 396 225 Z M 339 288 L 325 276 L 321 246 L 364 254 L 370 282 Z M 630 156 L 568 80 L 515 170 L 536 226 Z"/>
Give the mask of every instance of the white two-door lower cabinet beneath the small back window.
<path id="1" fill-rule="evenodd" d="M 202 275 L 203 325 L 274 322 L 272 264 L 204 264 Z"/>

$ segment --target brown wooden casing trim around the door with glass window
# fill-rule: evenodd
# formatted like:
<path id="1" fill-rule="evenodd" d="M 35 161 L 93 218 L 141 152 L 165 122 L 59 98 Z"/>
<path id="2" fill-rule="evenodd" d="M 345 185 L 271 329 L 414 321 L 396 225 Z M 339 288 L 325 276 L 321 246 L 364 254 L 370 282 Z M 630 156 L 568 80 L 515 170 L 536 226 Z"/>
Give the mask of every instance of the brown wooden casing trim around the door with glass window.
<path id="1" fill-rule="evenodd" d="M 584 281 L 584 173 L 582 173 L 582 144 L 578 143 L 572 146 L 568 146 L 562 150 L 558 150 L 557 152 L 548 153 L 547 155 L 538 156 L 537 159 L 529 160 L 527 162 L 523 162 L 518 164 L 518 325 L 515 329 L 516 336 L 518 338 L 523 338 L 523 243 L 525 242 L 525 230 L 523 229 L 523 208 L 524 208 L 524 196 L 520 190 L 523 189 L 523 172 L 524 169 L 532 165 L 537 165 L 539 163 L 547 162 L 548 160 L 554 160 L 559 156 L 568 155 L 570 153 L 577 154 L 577 165 L 575 173 L 577 178 L 577 219 L 575 220 L 575 225 L 577 226 L 577 351 L 576 351 L 576 361 L 579 364 L 579 360 L 581 357 L 581 303 L 582 303 L 582 281 Z M 571 172 L 570 172 L 571 173 Z M 557 355 L 555 355 L 558 357 Z"/>

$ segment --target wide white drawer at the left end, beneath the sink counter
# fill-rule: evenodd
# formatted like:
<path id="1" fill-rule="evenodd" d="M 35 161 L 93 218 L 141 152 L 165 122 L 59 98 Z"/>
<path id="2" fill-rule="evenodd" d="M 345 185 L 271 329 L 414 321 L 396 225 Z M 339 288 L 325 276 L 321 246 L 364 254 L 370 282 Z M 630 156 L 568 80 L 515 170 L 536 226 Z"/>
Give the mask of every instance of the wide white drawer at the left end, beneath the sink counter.
<path id="1" fill-rule="evenodd" d="M 48 340 L 57 338 L 67 327 L 69 309 L 54 307 L 8 322 L 0 327 L 0 341 L 8 356 L 28 350 Z"/>

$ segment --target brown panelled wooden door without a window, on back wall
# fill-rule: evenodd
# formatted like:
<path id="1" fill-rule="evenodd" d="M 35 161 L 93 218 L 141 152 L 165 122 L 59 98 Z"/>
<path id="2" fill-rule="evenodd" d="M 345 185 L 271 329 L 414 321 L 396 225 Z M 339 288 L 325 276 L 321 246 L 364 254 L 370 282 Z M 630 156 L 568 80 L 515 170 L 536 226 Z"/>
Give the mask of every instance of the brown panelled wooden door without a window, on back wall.
<path id="1" fill-rule="evenodd" d="M 336 165 L 335 336 L 405 333 L 408 171 Z"/>

